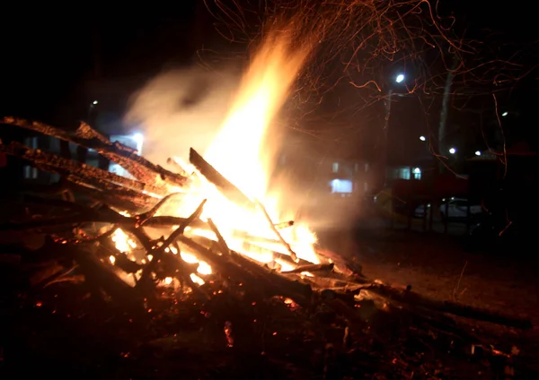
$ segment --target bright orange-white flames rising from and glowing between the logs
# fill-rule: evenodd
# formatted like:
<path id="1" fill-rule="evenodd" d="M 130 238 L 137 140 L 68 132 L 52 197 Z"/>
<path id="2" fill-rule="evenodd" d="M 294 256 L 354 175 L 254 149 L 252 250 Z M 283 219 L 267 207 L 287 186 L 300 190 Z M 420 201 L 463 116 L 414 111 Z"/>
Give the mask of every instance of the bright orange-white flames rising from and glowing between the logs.
<path id="1" fill-rule="evenodd" d="M 272 170 L 272 153 L 277 151 L 277 139 L 270 139 L 274 132 L 272 123 L 287 99 L 290 87 L 305 64 L 310 47 L 292 46 L 290 30 L 270 32 L 261 43 L 260 48 L 252 58 L 251 65 L 243 75 L 234 103 L 219 133 L 211 143 L 205 158 L 223 176 L 237 186 L 252 200 L 265 203 L 271 218 L 290 218 L 276 207 L 275 199 L 267 194 L 270 173 Z M 212 218 L 215 221 L 226 243 L 234 250 L 241 252 L 261 263 L 276 263 L 281 270 L 291 270 L 296 265 L 274 258 L 270 251 L 288 255 L 287 249 L 280 244 L 267 244 L 269 251 L 250 252 L 243 247 L 243 238 L 234 236 L 234 230 L 246 231 L 252 236 L 276 239 L 275 232 L 270 228 L 269 221 L 262 212 L 243 209 L 231 203 L 219 193 L 215 186 L 205 177 L 199 175 L 196 168 L 181 163 L 181 167 L 198 174 L 190 184 L 190 188 L 177 189 L 183 193 L 182 204 L 173 209 L 164 208 L 160 212 L 172 215 L 189 215 L 202 199 L 208 203 L 204 208 L 201 219 Z M 213 232 L 207 229 L 189 229 L 191 235 L 216 240 Z M 320 263 L 314 253 L 314 234 L 306 227 L 296 225 L 283 231 L 283 237 L 294 248 L 298 257 L 311 263 Z M 120 252 L 130 252 L 135 246 L 129 243 L 128 237 L 118 229 L 113 239 Z M 276 239 L 277 240 L 277 239 Z M 173 252 L 177 255 L 178 252 Z M 151 255 L 147 259 L 151 260 Z M 208 263 L 200 261 L 193 252 L 180 252 L 181 259 L 186 263 L 199 263 L 197 274 L 191 273 L 193 282 L 204 284 L 200 276 L 212 273 Z M 310 274 L 310 273 L 309 273 Z M 163 281 L 165 284 L 172 281 Z"/>

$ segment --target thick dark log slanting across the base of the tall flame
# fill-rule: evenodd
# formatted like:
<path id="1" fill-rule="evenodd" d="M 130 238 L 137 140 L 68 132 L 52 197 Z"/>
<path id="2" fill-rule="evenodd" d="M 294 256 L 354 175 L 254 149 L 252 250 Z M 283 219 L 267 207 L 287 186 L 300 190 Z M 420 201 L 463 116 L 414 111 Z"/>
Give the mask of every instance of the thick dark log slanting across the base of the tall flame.
<path id="1" fill-rule="evenodd" d="M 214 184 L 227 199 L 242 207 L 252 209 L 256 207 L 255 203 L 253 203 L 247 195 L 243 194 L 240 189 L 234 186 L 232 182 L 226 179 L 216 170 L 216 168 L 212 167 L 208 161 L 204 160 L 204 158 L 192 148 L 190 148 L 189 151 L 189 160 L 195 168 L 199 169 L 200 174 Z"/>

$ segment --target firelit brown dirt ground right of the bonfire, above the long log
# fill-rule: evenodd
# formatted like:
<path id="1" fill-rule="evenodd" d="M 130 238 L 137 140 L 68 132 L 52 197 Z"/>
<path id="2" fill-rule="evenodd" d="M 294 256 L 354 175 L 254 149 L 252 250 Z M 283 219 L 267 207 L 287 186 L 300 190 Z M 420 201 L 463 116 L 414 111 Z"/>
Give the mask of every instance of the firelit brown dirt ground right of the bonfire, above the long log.
<path id="1" fill-rule="evenodd" d="M 539 325 L 538 260 L 517 252 L 472 254 L 462 238 L 381 227 L 333 232 L 331 248 L 355 255 L 369 278 L 438 299 L 528 316 Z"/>

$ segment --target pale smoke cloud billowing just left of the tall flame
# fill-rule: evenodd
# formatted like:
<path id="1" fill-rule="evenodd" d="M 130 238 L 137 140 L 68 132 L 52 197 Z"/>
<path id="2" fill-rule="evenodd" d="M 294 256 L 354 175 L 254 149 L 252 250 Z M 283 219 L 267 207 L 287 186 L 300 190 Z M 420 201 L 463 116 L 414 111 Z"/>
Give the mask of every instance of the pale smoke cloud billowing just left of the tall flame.
<path id="1" fill-rule="evenodd" d="M 135 93 L 125 121 L 141 125 L 144 156 L 163 165 L 189 157 L 190 147 L 204 152 L 214 140 L 233 100 L 240 75 L 225 68 L 174 69 L 157 75 Z"/>

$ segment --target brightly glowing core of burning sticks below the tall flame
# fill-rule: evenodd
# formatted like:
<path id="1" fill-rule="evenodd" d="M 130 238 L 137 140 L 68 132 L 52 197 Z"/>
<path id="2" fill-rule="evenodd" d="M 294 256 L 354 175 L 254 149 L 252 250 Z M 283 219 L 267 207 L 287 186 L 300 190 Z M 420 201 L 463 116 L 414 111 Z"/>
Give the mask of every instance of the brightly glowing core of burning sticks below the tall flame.
<path id="1" fill-rule="evenodd" d="M 324 255 L 315 247 L 314 234 L 306 226 L 272 220 L 262 203 L 251 201 L 197 151 L 191 149 L 189 165 L 178 159 L 174 162 L 182 173 L 191 173 L 186 185 L 175 188 L 149 212 L 135 218 L 135 229 L 145 230 L 151 248 L 146 250 L 136 236 L 121 228 L 115 228 L 110 236 L 118 250 L 110 255 L 110 263 L 124 271 L 137 269 L 127 270 L 131 272 L 129 276 L 121 275 L 129 285 L 136 286 L 141 281 L 145 265 L 153 268 L 151 277 L 157 279 L 155 268 L 171 261 L 175 262 L 172 267 L 180 268 L 163 268 L 162 272 L 171 275 L 159 281 L 161 286 L 176 289 L 184 284 L 190 288 L 200 286 L 215 276 L 226 277 L 223 263 L 239 263 L 240 267 L 247 264 L 251 268 L 256 263 L 269 270 L 268 274 L 279 273 L 311 284 L 316 283 L 321 273 L 326 281 L 336 280 L 337 273 L 351 274 L 346 264 L 335 266 L 334 255 L 327 257 L 327 253 Z M 123 214 L 130 216 L 128 212 Z M 185 219 L 172 227 L 152 226 L 153 218 L 167 214 Z"/>

